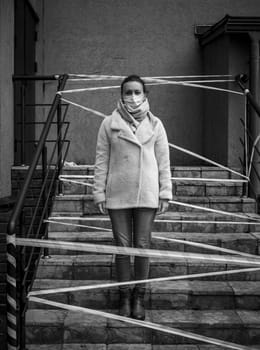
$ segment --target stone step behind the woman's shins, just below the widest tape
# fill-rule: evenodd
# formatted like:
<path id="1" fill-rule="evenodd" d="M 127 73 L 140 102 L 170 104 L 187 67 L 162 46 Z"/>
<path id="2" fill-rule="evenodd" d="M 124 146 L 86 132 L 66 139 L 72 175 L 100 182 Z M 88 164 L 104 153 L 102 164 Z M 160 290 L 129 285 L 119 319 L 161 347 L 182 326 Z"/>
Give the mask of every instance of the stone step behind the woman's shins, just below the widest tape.
<path id="1" fill-rule="evenodd" d="M 228 257 L 228 256 L 227 256 Z M 151 258 L 150 278 L 227 271 L 248 267 L 234 263 L 203 262 L 177 258 Z M 251 265 L 252 266 L 252 265 Z M 133 274 L 133 264 L 132 264 Z M 116 279 L 113 255 L 52 255 L 41 259 L 36 278 L 71 280 Z M 259 281 L 260 271 L 236 273 L 221 276 L 207 276 L 199 279 L 210 281 Z"/>

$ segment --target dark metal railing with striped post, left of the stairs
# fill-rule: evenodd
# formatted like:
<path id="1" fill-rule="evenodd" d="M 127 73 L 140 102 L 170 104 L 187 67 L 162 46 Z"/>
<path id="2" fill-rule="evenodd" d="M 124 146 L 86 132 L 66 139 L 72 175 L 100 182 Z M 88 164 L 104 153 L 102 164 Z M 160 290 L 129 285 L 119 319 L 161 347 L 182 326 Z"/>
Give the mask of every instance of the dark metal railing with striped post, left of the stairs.
<path id="1" fill-rule="evenodd" d="M 57 80 L 58 90 L 63 90 L 67 75 L 61 76 L 16 76 L 15 81 Z M 22 84 L 25 86 L 25 84 Z M 22 103 L 23 111 L 26 105 Z M 8 349 L 25 349 L 25 312 L 27 294 L 32 287 L 41 250 L 35 247 L 16 247 L 15 237 L 48 238 L 45 219 L 48 218 L 52 197 L 59 190 L 59 174 L 69 148 L 66 135 L 69 123 L 65 121 L 68 105 L 61 104 L 60 95 L 55 94 L 40 135 L 31 164 L 18 195 L 7 229 L 7 343 Z M 22 112 L 21 127 L 26 127 L 25 113 Z M 48 142 L 51 126 L 56 127 L 56 137 L 50 151 Z M 23 132 L 21 133 L 24 136 Z M 24 154 L 25 139 L 21 139 Z M 48 155 L 48 152 L 50 153 Z M 36 182 L 36 186 L 35 186 Z M 38 190 L 35 190 L 35 187 Z M 29 201 L 29 205 L 28 205 Z M 48 251 L 44 250 L 44 256 Z"/>

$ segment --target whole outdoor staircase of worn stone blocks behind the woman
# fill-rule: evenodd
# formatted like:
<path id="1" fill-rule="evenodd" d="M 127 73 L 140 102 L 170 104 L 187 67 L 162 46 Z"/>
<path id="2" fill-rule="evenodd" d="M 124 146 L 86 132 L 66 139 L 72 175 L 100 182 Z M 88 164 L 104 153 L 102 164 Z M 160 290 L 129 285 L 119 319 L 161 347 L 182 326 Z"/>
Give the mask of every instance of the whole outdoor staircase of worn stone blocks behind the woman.
<path id="1" fill-rule="evenodd" d="M 91 175 L 93 168 L 67 167 L 64 174 Z M 230 178 L 227 171 L 213 167 L 175 167 L 173 176 Z M 256 215 L 256 203 L 243 197 L 242 184 L 174 181 L 174 200 L 213 209 Z M 63 185 L 55 199 L 52 217 L 77 216 L 73 223 L 110 228 L 94 206 L 91 188 Z M 84 217 L 84 221 L 80 219 Z M 192 240 L 259 254 L 260 225 L 219 224 L 241 221 L 224 214 L 171 205 L 158 219 L 209 220 L 207 224 L 157 222 L 153 235 Z M 62 221 L 62 220 L 60 220 Z M 243 221 L 243 220 L 242 220 Z M 49 224 L 49 239 L 114 244 L 111 232 Z M 153 238 L 152 248 L 180 252 L 214 253 L 203 248 Z M 114 257 L 50 249 L 42 259 L 33 289 L 81 286 L 116 280 Z M 222 254 L 223 253 L 219 253 Z M 150 277 L 186 275 L 244 268 L 230 263 L 151 259 Z M 247 266 L 246 266 L 247 267 Z M 41 296 L 39 296 L 41 297 Z M 53 294 L 49 300 L 117 313 L 117 288 Z M 146 320 L 212 338 L 260 349 L 260 271 L 207 278 L 152 283 L 147 286 Z M 128 323 L 66 311 L 30 302 L 26 315 L 28 350 L 217 350 L 214 345 L 167 335 Z"/>

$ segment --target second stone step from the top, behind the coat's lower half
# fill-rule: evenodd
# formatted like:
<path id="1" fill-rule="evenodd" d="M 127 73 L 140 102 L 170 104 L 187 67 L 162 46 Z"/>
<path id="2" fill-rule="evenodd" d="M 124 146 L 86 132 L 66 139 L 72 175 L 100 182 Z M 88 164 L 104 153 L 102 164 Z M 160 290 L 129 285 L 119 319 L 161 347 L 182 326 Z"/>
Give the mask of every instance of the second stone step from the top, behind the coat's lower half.
<path id="1" fill-rule="evenodd" d="M 71 178 L 74 181 L 82 179 Z M 84 179 L 86 183 L 93 183 L 93 179 Z M 172 192 L 174 196 L 242 196 L 243 185 L 237 182 L 212 182 L 212 181 L 184 181 L 173 180 Z M 63 194 L 92 194 L 92 187 L 73 182 L 63 182 Z"/>

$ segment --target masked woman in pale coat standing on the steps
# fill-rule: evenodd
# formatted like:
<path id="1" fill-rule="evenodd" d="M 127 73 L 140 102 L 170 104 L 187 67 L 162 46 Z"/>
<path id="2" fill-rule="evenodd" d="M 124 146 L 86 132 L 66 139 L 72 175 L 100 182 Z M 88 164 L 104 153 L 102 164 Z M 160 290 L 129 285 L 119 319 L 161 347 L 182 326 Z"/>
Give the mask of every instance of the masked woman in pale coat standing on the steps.
<path id="1" fill-rule="evenodd" d="M 94 201 L 108 214 L 118 246 L 150 248 L 154 217 L 172 198 L 169 147 L 161 121 L 149 108 L 144 81 L 136 75 L 121 84 L 121 99 L 98 133 Z M 131 280 L 130 257 L 116 256 L 119 282 Z M 135 280 L 149 276 L 149 258 L 135 257 Z M 120 286 L 119 313 L 145 318 L 145 285 Z M 132 305 L 131 305 L 132 299 Z"/>

